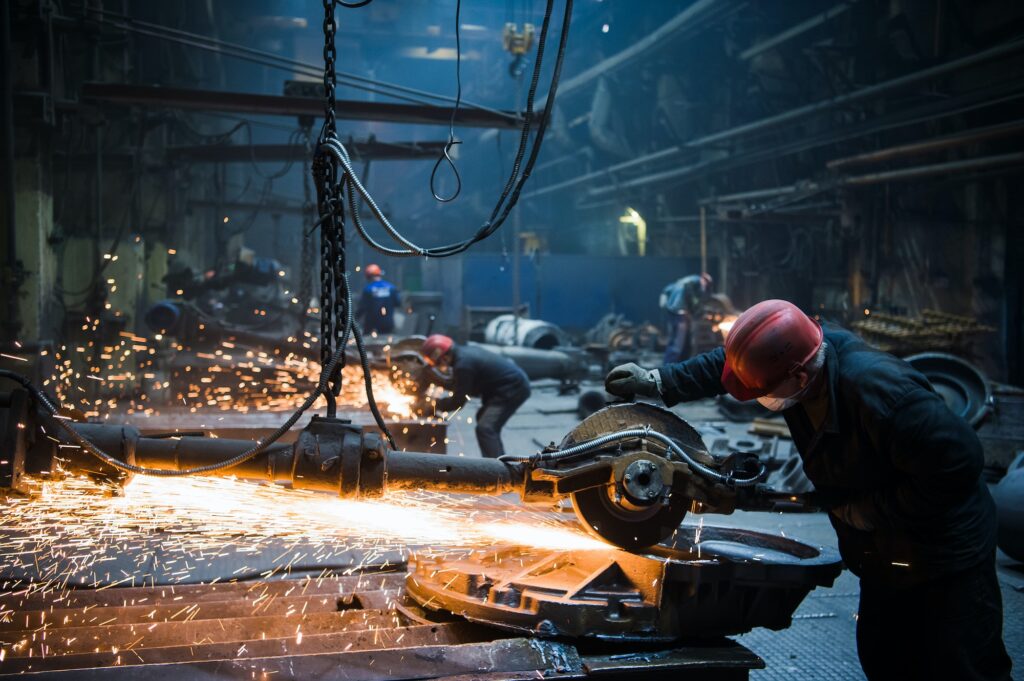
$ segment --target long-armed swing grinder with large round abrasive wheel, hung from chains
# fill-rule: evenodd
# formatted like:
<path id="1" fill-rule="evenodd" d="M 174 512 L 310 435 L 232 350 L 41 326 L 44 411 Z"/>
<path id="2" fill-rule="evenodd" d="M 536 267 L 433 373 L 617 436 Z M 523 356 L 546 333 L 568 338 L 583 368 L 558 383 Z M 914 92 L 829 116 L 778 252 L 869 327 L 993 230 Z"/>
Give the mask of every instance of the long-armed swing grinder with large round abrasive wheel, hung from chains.
<path id="1" fill-rule="evenodd" d="M 35 424 L 19 421 L 35 436 L 30 443 L 26 434 L 16 432 L 23 428 L 8 423 L 28 414 L 19 400 L 8 397 L 10 407 L 0 410 L 7 423 L 0 435 L 15 444 L 13 456 L 4 460 L 14 465 L 0 468 L 8 480 L 5 490 L 17 491 L 14 481 L 24 475 L 62 471 L 122 484 L 129 476 L 115 465 L 120 461 L 146 469 L 135 471 L 140 474 L 197 471 L 344 498 L 376 498 L 408 490 L 516 493 L 525 502 L 545 503 L 569 497 L 588 533 L 628 550 L 666 540 L 689 510 L 730 513 L 740 504 L 765 508 L 769 499 L 755 484 L 765 471 L 756 456 L 712 457 L 685 421 L 645 403 L 601 410 L 558 448 L 527 456 L 479 459 L 397 452 L 386 446 L 378 433 L 365 432 L 346 420 L 314 416 L 294 443 L 272 442 L 245 459 L 257 442 L 173 432 L 142 436 L 137 428 L 118 424 L 73 426 L 105 458 L 67 439 L 39 436 Z M 45 424 L 51 417 L 39 418 Z M 57 433 L 55 427 L 52 430 Z M 221 465 L 224 462 L 237 463 Z"/>

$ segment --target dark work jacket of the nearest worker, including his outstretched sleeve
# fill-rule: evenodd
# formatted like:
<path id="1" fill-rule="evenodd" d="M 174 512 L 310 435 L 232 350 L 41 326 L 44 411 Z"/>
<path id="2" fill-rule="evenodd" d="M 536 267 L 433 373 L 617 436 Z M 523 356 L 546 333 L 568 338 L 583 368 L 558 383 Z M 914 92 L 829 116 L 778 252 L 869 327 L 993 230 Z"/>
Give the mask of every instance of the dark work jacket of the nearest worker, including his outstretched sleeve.
<path id="1" fill-rule="evenodd" d="M 974 430 L 906 363 L 838 327 L 826 326 L 824 337 L 828 413 L 820 430 L 799 405 L 782 415 L 807 477 L 833 509 L 846 565 L 898 587 L 989 557 L 995 505 Z M 716 348 L 662 368 L 666 403 L 724 393 L 724 364 Z"/>

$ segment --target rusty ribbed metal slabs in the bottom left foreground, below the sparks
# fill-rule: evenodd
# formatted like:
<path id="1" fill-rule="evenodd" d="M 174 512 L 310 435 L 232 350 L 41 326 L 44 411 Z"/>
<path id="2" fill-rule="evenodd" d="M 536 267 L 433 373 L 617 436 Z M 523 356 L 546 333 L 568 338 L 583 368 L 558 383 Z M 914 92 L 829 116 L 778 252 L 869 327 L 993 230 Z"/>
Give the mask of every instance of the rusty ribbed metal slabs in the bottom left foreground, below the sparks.
<path id="1" fill-rule="evenodd" d="M 34 679 L 745 679 L 728 639 L 668 648 L 505 636 L 428 615 L 404 572 L 0 594 L 0 675 Z M 428 619 L 430 618 L 430 619 Z M 469 675 L 469 676 L 467 676 Z"/>

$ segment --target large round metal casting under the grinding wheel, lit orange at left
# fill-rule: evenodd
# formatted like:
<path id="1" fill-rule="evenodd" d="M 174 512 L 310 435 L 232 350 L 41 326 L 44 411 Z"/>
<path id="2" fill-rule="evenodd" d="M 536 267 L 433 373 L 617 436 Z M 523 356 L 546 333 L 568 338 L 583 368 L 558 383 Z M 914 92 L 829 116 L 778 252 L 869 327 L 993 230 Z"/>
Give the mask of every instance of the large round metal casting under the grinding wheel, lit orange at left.
<path id="1" fill-rule="evenodd" d="M 830 587 L 838 553 L 743 529 L 684 526 L 642 554 L 482 549 L 415 554 L 406 591 L 422 607 L 516 633 L 631 641 L 782 629 Z"/>

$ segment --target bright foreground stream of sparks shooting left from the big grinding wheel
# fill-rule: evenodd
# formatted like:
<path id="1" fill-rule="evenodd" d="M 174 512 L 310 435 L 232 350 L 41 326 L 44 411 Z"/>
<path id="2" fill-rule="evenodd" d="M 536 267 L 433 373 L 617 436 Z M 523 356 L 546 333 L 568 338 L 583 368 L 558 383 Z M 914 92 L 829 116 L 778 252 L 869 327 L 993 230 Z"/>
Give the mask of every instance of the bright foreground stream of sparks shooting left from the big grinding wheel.
<path id="1" fill-rule="evenodd" d="M 256 612 L 266 604 L 268 580 L 305 578 L 303 585 L 373 571 L 403 562 L 412 548 L 454 557 L 497 546 L 616 550 L 585 535 L 571 516 L 503 499 L 421 492 L 345 500 L 216 477 L 136 477 L 123 495 L 110 495 L 73 476 L 7 499 L 0 518 L 0 629 L 22 629 L 20 603 L 33 595 L 50 603 L 43 619 L 56 609 L 87 620 L 89 606 L 74 605 L 77 588 L 173 590 L 244 580 Z M 187 621 L 200 607 L 160 621 Z M 31 636 L 0 634 L 0 653 L 24 658 L 78 649 L 73 640 L 47 638 L 47 628 L 41 620 Z M 139 632 L 135 647 L 146 646 L 148 631 Z M 294 640 L 301 641 L 300 630 Z"/>

